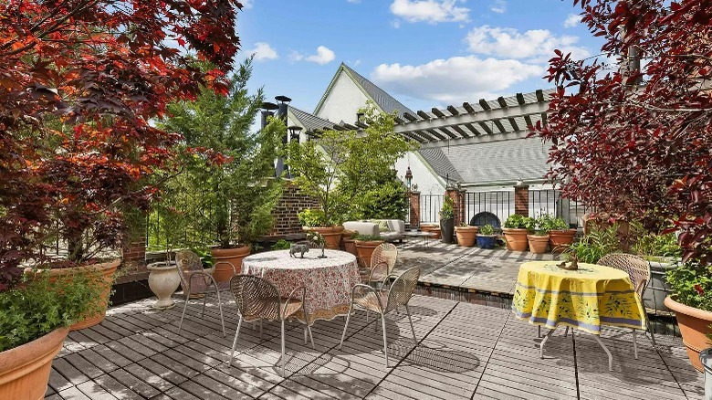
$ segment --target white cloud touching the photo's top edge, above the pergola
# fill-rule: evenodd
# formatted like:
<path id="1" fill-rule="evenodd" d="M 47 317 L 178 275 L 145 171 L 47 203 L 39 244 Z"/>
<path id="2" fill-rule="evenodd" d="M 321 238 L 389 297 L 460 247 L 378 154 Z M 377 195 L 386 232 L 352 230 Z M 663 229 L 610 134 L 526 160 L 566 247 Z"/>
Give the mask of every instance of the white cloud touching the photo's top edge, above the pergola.
<path id="1" fill-rule="evenodd" d="M 462 0 L 393 0 L 391 12 L 408 22 L 460 22 L 467 21 L 469 8 L 455 4 Z"/>

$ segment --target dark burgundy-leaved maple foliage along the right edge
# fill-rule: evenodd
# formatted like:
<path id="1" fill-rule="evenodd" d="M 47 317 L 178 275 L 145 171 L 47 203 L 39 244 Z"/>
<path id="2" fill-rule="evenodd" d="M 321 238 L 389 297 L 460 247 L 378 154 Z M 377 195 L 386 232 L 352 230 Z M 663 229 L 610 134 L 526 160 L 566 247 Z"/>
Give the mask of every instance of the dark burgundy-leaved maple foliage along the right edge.
<path id="1" fill-rule="evenodd" d="M 712 2 L 579 3 L 622 68 L 550 59 L 559 89 L 536 127 L 552 143 L 549 177 L 598 210 L 682 229 L 685 258 L 711 264 Z"/>

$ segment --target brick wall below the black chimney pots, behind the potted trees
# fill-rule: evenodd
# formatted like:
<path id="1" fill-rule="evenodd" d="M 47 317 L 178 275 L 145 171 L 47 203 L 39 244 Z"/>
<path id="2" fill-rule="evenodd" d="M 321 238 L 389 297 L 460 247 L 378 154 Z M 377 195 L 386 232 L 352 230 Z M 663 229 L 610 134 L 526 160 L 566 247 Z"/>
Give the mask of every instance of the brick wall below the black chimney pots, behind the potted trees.
<path id="1" fill-rule="evenodd" d="M 277 206 L 272 210 L 275 217 L 275 226 L 267 237 L 283 237 L 301 233 L 301 225 L 297 213 L 306 208 L 317 208 L 317 199 L 301 192 L 296 184 L 286 184 L 282 196 L 277 201 Z"/>

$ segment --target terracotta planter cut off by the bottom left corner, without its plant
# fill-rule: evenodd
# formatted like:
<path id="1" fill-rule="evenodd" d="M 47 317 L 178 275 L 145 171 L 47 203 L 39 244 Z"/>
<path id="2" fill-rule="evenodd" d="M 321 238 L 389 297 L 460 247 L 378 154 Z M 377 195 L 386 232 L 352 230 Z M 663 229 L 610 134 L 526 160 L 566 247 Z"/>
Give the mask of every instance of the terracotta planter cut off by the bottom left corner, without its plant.
<path id="1" fill-rule="evenodd" d="M 52 359 L 68 332 L 68 328 L 59 328 L 0 353 L 0 399 L 45 398 Z"/>

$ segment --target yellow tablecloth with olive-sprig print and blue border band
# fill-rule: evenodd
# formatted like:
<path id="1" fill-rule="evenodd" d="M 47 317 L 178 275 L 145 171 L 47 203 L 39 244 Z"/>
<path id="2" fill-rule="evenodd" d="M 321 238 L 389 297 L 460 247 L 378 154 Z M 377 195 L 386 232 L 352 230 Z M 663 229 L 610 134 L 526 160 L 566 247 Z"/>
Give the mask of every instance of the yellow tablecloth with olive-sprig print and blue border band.
<path id="1" fill-rule="evenodd" d="M 549 329 L 568 325 L 596 335 L 602 324 L 645 329 L 643 304 L 628 274 L 595 264 L 580 263 L 576 271 L 556 261 L 522 264 L 512 311 Z"/>

